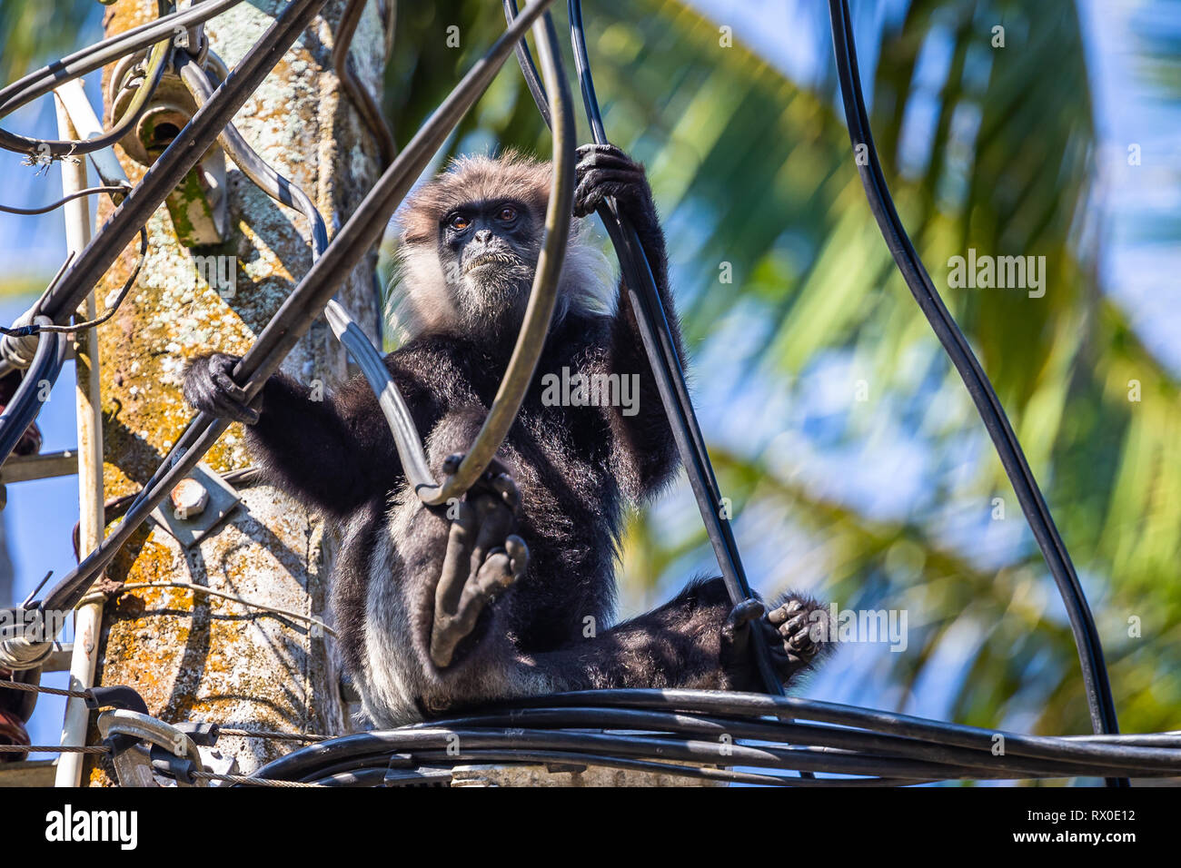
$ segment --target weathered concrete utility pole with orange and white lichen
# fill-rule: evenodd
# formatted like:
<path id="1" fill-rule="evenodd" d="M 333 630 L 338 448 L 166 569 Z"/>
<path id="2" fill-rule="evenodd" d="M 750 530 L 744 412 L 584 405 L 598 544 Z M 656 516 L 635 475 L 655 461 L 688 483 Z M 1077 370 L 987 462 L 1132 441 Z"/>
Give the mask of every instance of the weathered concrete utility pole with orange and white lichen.
<path id="1" fill-rule="evenodd" d="M 205 25 L 211 51 L 233 68 L 283 5 L 252 0 L 211 20 Z M 235 118 L 261 157 L 312 197 L 329 234 L 379 171 L 373 133 L 333 72 L 331 56 L 344 6 L 344 0 L 326 4 Z M 377 0 L 366 5 L 352 43 L 357 77 L 374 94 L 380 93 L 386 50 L 383 6 Z M 106 13 L 106 32 L 120 33 L 155 17 L 156 0 L 118 0 Z M 106 79 L 119 72 L 109 68 Z M 110 94 L 118 83 L 105 80 L 104 86 Z M 131 143 L 118 150 L 132 183 L 145 170 L 145 155 L 137 162 L 132 151 L 145 151 L 150 161 L 154 149 L 183 125 L 183 106 L 174 104 L 169 91 L 162 89 L 157 102 L 141 124 L 142 148 Z M 106 112 L 110 126 L 110 98 Z M 203 167 L 204 174 L 190 175 L 170 205 L 161 207 L 148 223 L 149 254 L 137 286 L 113 321 L 99 329 L 107 498 L 137 491 L 180 437 L 190 416 L 181 397 L 185 361 L 209 351 L 244 353 L 311 263 L 307 220 L 255 188 L 220 150 Z M 227 210 L 218 214 L 222 198 Z M 104 204 L 99 220 L 110 210 Z M 210 240 L 215 243 L 193 243 Z M 97 293 L 99 309 L 122 286 L 137 254 L 138 242 L 129 244 L 106 275 Z M 338 296 L 371 332 L 378 322 L 374 265 L 376 252 Z M 345 357 L 327 326 L 319 324 L 283 370 L 331 389 L 345 374 Z M 250 464 L 240 426 L 229 429 L 205 463 L 217 474 Z M 209 513 L 218 508 L 221 492 L 216 485 L 205 488 L 213 491 L 204 508 Z M 265 606 L 326 616 L 331 541 L 321 521 L 273 488 L 241 485 L 230 497 L 234 494 L 241 504 L 196 544 L 184 544 L 167 522 L 154 522 L 112 562 L 102 586 L 109 600 L 97 680 L 135 687 L 151 713 L 167 722 L 339 732 L 346 714 L 327 653 L 331 637 L 307 621 L 189 588 L 143 587 L 208 586 Z M 185 528 L 201 523 L 175 524 L 184 536 Z M 119 589 L 120 583 L 128 589 Z M 89 740 L 94 743 L 97 732 L 92 730 Z M 236 756 L 243 772 L 291 746 L 230 737 L 218 743 L 223 753 Z M 110 783 L 110 770 L 92 766 L 89 781 Z"/>

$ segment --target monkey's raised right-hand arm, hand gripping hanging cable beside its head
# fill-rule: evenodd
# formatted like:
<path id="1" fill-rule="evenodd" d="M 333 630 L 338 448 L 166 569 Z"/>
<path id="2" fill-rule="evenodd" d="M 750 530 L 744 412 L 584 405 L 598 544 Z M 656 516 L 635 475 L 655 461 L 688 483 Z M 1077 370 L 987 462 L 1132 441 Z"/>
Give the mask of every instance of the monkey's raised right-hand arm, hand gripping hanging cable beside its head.
<path id="1" fill-rule="evenodd" d="M 660 228 L 644 167 L 614 145 L 583 145 L 579 149 L 579 157 L 575 216 L 592 213 L 607 196 L 614 197 L 620 213 L 639 236 L 672 329 L 677 355 L 684 360 L 677 307 L 668 289 L 668 256 L 664 230 Z M 619 285 L 619 305 L 612 322 L 608 365 L 611 373 L 621 378 L 639 377 L 635 403 L 631 407 L 608 407 L 608 418 L 618 444 L 616 474 L 625 491 L 634 500 L 642 500 L 668 479 L 678 459 L 672 430 L 644 351 L 626 280 L 620 280 Z"/>

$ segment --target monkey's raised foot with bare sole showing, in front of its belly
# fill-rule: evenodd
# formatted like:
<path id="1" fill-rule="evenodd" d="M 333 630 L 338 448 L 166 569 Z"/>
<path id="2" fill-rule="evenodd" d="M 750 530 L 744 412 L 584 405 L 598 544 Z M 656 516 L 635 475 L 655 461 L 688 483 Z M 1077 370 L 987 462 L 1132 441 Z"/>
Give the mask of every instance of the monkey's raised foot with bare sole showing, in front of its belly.
<path id="1" fill-rule="evenodd" d="M 529 563 L 529 548 L 509 530 L 520 495 L 503 472 L 485 476 L 456 504 L 439 583 L 435 588 L 431 661 L 451 665 L 456 646 L 476 628 L 479 614 Z"/>

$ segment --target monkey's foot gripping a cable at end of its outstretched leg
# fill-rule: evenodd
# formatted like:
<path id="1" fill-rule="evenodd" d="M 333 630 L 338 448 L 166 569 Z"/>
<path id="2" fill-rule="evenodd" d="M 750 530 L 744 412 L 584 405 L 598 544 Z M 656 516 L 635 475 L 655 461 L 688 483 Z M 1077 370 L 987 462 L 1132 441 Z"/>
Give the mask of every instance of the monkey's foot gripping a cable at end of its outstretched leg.
<path id="1" fill-rule="evenodd" d="M 828 647 L 828 614 L 820 603 L 789 595 L 764 616 L 759 600 L 745 600 L 730 612 L 722 628 L 722 665 L 733 690 L 763 688 L 750 647 L 752 631 L 763 634 L 781 684 L 788 684 Z"/>

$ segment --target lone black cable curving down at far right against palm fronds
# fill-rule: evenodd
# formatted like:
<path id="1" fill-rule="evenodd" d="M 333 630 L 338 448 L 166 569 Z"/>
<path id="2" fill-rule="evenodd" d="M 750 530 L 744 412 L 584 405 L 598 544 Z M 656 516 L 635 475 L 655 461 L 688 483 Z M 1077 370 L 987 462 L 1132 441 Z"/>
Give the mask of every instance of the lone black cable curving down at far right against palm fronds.
<path id="1" fill-rule="evenodd" d="M 1095 619 L 1087 603 L 1087 596 L 1071 563 L 1070 554 L 1066 552 L 1057 527 L 1055 527 L 1053 517 L 1045 504 L 1042 490 L 1033 478 L 1025 453 L 1022 451 L 1020 443 L 1013 433 L 1009 417 L 1005 415 L 992 384 L 955 320 L 944 305 L 931 275 L 927 274 L 922 260 L 911 243 L 902 221 L 898 216 L 898 210 L 894 208 L 894 201 L 889 195 L 886 176 L 877 157 L 877 149 L 874 146 L 869 116 L 861 92 L 857 52 L 853 41 L 853 24 L 847 0 L 829 0 L 829 17 L 833 22 L 833 45 L 836 51 L 836 67 L 841 81 L 844 116 L 849 126 L 849 138 L 854 149 L 864 145 L 868 152 L 868 159 L 857 161 L 857 172 L 866 188 L 869 207 L 907 287 L 909 287 L 915 301 L 919 302 L 919 307 L 939 338 L 939 342 L 963 378 L 968 394 L 972 396 L 997 449 L 997 455 L 1000 456 L 1005 474 L 1012 482 L 1013 491 L 1022 504 L 1030 529 L 1042 549 L 1046 566 L 1058 586 L 1066 614 L 1070 618 L 1075 645 L 1078 648 L 1091 725 L 1096 732 L 1116 733 L 1120 731 L 1120 725 L 1107 666 L 1103 661 L 1103 646 L 1095 627 Z M 1110 785 L 1127 784 L 1123 781 L 1109 781 L 1108 783 Z"/>

